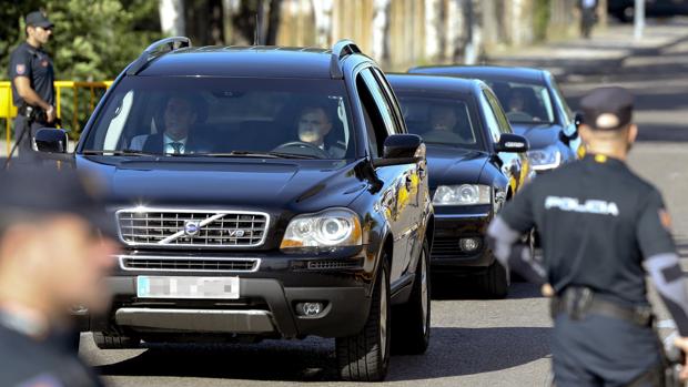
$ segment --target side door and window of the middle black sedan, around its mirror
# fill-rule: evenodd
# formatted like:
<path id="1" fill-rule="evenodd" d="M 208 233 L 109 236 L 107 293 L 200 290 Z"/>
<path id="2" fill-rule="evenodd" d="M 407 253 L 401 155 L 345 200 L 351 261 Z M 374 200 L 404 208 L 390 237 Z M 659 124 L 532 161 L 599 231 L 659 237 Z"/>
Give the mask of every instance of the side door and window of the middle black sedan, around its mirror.
<path id="1" fill-rule="evenodd" d="M 480 95 L 480 103 L 484 105 L 485 119 L 493 143 L 499 142 L 503 133 L 513 133 L 502 105 L 493 92 L 484 88 Z M 515 194 L 522 186 L 527 174 L 528 162 L 524 153 L 500 152 L 495 155 L 499 160 L 502 173 L 509 180 L 512 193 Z"/>

